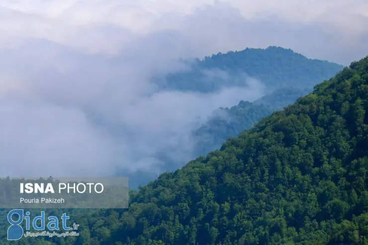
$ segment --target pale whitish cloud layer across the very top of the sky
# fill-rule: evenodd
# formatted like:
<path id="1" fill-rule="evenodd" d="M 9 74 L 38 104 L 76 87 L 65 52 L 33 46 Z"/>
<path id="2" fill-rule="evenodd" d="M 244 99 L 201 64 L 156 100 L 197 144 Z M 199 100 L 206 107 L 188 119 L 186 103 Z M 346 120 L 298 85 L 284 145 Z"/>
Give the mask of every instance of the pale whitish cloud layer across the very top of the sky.
<path id="1" fill-rule="evenodd" d="M 14 39 L 36 37 L 88 52 L 116 54 L 137 35 L 172 28 L 196 42 L 198 49 L 206 44 L 206 52 L 212 53 L 219 48 L 288 45 L 308 56 L 349 63 L 360 58 L 358 51 L 368 52 L 362 41 L 368 35 L 366 0 L 3 0 L 0 12 L 3 47 L 17 44 Z M 268 25 L 275 32 L 271 35 L 282 32 L 282 36 L 267 36 Z M 300 35 L 293 33 L 295 29 L 312 36 L 306 41 L 294 37 Z M 308 48 L 307 42 L 313 40 L 322 42 L 316 52 Z M 325 51 L 331 43 L 334 51 Z M 336 49 L 357 51 L 335 55 Z"/>

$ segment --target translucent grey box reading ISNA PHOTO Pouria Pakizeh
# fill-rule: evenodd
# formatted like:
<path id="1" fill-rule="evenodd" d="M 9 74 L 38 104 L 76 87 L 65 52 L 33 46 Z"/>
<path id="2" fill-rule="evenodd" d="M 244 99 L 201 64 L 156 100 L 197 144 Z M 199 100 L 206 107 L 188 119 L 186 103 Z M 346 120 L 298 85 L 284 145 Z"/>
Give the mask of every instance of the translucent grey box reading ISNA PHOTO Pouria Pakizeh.
<path id="1" fill-rule="evenodd" d="M 1 178 L 0 208 L 128 208 L 128 178 Z"/>

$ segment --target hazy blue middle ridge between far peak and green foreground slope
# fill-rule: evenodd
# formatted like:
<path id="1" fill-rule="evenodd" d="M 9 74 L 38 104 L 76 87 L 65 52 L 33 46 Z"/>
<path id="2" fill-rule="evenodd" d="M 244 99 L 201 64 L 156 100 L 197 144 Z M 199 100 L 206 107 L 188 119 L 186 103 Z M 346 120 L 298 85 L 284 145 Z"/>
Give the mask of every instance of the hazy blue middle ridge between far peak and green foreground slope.
<path id="1" fill-rule="evenodd" d="M 308 89 L 286 87 L 253 103 L 241 101 L 231 108 L 219 108 L 208 122 L 193 132 L 196 142 L 194 156 L 206 155 L 210 151 L 217 150 L 228 137 L 238 136 L 240 132 L 249 129 L 262 118 L 294 103 L 297 98 L 308 92 Z"/>

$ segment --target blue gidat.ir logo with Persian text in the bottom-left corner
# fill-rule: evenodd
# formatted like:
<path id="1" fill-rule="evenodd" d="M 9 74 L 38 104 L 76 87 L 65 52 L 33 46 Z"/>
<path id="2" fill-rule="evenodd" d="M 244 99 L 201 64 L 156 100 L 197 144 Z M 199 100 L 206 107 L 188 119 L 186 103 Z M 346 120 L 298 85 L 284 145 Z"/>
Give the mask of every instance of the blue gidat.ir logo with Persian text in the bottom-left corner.
<path id="1" fill-rule="evenodd" d="M 7 240 L 19 240 L 22 238 L 24 234 L 23 228 L 20 226 L 25 220 L 25 230 L 29 231 L 31 227 L 30 221 L 30 212 L 25 212 L 23 209 L 13 209 L 7 214 L 7 221 L 10 223 L 9 228 L 7 229 Z M 66 213 L 63 213 L 61 216 L 62 227 L 65 231 L 77 230 L 79 225 L 73 224 L 73 227 L 67 226 L 67 220 L 70 217 L 67 216 Z M 36 231 L 45 231 L 45 225 L 50 231 L 59 231 L 59 219 L 56 216 L 49 216 L 47 225 L 45 224 L 45 211 L 41 211 L 40 216 L 36 216 L 32 220 L 32 228 Z M 41 221 L 40 224 L 37 224 L 37 221 Z M 28 232 L 27 232 L 28 233 Z M 68 232 L 69 233 L 69 232 Z M 42 234 L 34 234 L 36 236 L 42 236 Z"/>

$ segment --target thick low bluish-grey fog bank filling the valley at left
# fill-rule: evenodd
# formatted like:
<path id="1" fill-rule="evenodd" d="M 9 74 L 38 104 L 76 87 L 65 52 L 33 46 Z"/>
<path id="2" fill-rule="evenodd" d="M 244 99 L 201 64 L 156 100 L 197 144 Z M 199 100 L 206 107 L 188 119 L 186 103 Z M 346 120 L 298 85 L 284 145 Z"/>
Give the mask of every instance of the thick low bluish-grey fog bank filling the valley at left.
<path id="1" fill-rule="evenodd" d="M 145 49 L 136 46 L 138 58 L 134 50 L 114 58 L 86 55 L 42 39 L 4 51 L 0 160 L 6 164 L 1 173 L 159 174 L 190 160 L 190 132 L 213 110 L 264 94 L 262 83 L 246 75 L 239 77 L 242 87 L 212 94 L 160 91 L 151 83 L 154 73 L 188 67 L 177 58 L 160 57 L 157 46 L 144 46 L 150 40 L 140 40 Z M 221 70 L 204 74 L 230 79 Z"/>

